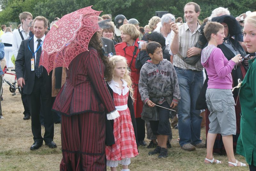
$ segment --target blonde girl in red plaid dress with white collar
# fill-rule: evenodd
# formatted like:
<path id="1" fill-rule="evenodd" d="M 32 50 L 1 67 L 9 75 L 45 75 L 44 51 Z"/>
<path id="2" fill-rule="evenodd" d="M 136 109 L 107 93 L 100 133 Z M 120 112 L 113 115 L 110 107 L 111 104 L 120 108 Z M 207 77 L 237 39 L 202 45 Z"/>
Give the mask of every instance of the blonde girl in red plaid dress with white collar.
<path id="1" fill-rule="evenodd" d="M 127 106 L 128 97 L 133 95 L 132 80 L 127 70 L 127 62 L 123 56 L 112 56 L 113 70 L 109 72 L 108 85 L 113 91 L 113 99 L 119 117 L 107 115 L 108 120 L 114 119 L 113 134 L 115 144 L 106 146 L 107 166 L 116 171 L 118 164 L 123 165 L 122 171 L 129 171 L 131 158 L 138 155 L 135 133 L 130 109 Z M 110 81 L 109 81 L 110 80 Z"/>

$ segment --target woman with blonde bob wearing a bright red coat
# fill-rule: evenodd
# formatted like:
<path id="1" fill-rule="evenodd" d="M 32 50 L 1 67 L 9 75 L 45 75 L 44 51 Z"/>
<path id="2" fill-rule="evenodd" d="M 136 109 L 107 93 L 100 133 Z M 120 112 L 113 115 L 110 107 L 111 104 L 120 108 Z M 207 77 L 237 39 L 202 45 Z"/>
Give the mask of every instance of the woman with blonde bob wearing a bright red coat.
<path id="1" fill-rule="evenodd" d="M 141 119 L 141 112 L 143 107 L 143 102 L 141 101 L 139 93 L 139 78 L 140 70 L 135 67 L 135 61 L 139 53 L 139 35 L 140 32 L 132 24 L 122 25 L 120 28 L 122 43 L 116 44 L 116 55 L 124 56 L 127 60 L 128 67 L 131 71 L 132 78 L 132 88 L 134 91 L 134 113 L 137 124 L 137 137 L 140 145 L 145 146 L 145 121 Z"/>

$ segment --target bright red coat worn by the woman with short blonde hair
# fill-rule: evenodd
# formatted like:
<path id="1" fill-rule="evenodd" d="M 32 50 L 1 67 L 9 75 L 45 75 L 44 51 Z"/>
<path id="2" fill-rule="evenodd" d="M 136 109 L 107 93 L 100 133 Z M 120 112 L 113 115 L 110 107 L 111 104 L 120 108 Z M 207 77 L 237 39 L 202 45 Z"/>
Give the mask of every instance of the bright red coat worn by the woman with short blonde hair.
<path id="1" fill-rule="evenodd" d="M 139 48 L 132 60 L 134 48 L 135 46 L 138 47 L 138 41 L 139 41 L 139 38 L 135 40 L 134 46 L 127 46 L 127 43 L 125 42 L 118 43 L 115 45 L 116 55 L 124 56 L 127 59 L 128 66 L 130 66 L 132 61 L 132 65 L 130 69 L 131 69 L 131 78 L 132 78 L 133 91 L 134 91 L 133 96 L 135 98 L 133 106 L 134 106 L 134 112 L 135 112 L 136 118 L 141 117 L 142 108 L 143 108 L 143 102 L 141 101 L 139 86 L 138 86 L 139 79 L 140 79 L 140 70 L 135 67 L 135 61 L 139 53 Z"/>

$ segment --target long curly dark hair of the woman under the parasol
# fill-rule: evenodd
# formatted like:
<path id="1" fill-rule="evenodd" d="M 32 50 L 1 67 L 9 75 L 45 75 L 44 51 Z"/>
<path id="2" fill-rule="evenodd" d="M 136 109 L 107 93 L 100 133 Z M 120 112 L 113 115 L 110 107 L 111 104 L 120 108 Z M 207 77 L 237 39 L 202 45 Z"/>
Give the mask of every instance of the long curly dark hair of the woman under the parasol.
<path id="1" fill-rule="evenodd" d="M 112 63 L 110 63 L 108 57 L 104 56 L 102 53 L 102 43 L 101 43 L 100 37 L 101 37 L 100 33 L 95 32 L 89 42 L 89 46 L 92 46 L 98 51 L 100 55 L 100 59 L 105 65 L 104 75 L 108 76 L 109 75 L 108 71 L 111 71 Z"/>

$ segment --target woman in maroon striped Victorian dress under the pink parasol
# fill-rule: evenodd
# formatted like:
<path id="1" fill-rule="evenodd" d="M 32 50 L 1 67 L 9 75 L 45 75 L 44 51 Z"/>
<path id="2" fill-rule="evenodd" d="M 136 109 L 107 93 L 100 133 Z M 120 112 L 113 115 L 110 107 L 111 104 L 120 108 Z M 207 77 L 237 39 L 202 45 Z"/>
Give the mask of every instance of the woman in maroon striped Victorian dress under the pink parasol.
<path id="1" fill-rule="evenodd" d="M 62 114 L 63 171 L 105 170 L 105 115 L 119 115 L 104 81 L 108 59 L 102 55 L 99 33 L 92 36 L 88 50 L 69 64 L 67 80 L 53 104 Z"/>

